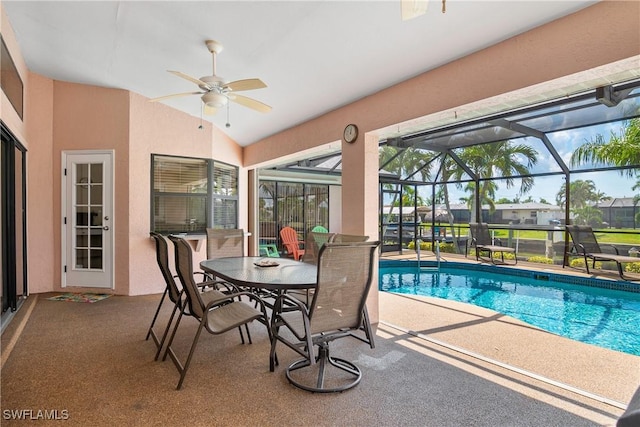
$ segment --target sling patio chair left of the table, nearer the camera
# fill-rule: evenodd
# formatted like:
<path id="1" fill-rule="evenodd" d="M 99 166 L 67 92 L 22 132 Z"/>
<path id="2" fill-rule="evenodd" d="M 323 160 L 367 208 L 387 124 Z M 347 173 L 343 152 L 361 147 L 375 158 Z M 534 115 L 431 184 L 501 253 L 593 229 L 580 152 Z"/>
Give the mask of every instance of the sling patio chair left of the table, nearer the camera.
<path id="1" fill-rule="evenodd" d="M 265 305 L 255 294 L 247 291 L 238 291 L 232 294 L 224 294 L 222 297 L 217 295 L 208 297 L 212 291 L 200 292 L 193 280 L 193 255 L 191 246 L 186 240 L 179 237 L 169 236 L 169 239 L 175 247 L 176 270 L 186 295 L 189 312 L 191 313 L 191 317 L 199 322 L 198 329 L 189 350 L 189 355 L 184 363 L 180 361 L 175 350 L 172 348 L 176 331 L 180 326 L 180 320 L 184 314 L 182 311 L 178 316 L 178 320 L 167 344 L 165 354 L 171 357 L 178 372 L 180 372 L 180 380 L 176 387 L 180 390 L 189 366 L 191 365 L 191 360 L 203 329 L 213 335 L 219 335 L 232 329 L 240 328 L 242 325 L 246 326 L 254 320 L 257 320 L 267 328 L 269 340 L 271 340 L 271 329 L 269 328 L 269 318 L 267 317 Z M 256 304 L 255 307 L 242 301 L 242 297 L 253 301 Z M 249 329 L 247 328 L 247 333 L 248 331 Z M 251 335 L 249 334 L 248 340 L 249 343 L 251 343 Z"/>

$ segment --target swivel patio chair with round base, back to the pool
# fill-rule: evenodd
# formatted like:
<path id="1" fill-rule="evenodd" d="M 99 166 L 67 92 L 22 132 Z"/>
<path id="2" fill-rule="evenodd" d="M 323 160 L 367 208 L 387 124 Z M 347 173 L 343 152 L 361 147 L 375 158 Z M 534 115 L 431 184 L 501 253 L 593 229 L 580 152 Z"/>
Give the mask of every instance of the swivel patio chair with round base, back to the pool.
<path id="1" fill-rule="evenodd" d="M 277 364 L 276 346 L 282 342 L 303 359 L 289 365 L 287 380 L 303 390 L 341 392 L 355 387 L 362 371 L 354 363 L 331 356 L 329 344 L 354 337 L 374 348 L 373 333 L 365 318 L 365 305 L 373 280 L 380 242 L 326 243 L 318 258 L 318 279 L 309 306 L 282 294 L 271 317 L 271 370 Z M 295 306 L 297 310 L 291 310 Z M 285 308 L 287 307 L 287 308 Z M 354 334 L 366 321 L 368 333 Z M 316 355 L 315 347 L 318 347 Z M 333 375 L 340 372 L 339 375 Z M 346 379 L 345 375 L 346 373 Z"/>

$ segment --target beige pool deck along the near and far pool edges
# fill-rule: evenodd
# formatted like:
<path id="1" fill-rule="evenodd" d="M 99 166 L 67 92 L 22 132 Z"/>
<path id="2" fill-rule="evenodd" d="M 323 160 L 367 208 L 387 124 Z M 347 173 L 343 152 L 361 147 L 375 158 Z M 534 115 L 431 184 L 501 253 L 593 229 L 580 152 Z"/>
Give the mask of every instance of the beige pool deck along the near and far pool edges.
<path id="1" fill-rule="evenodd" d="M 475 258 L 443 254 L 449 261 L 477 263 Z M 381 259 L 415 260 L 414 252 L 383 254 Z M 421 259 L 433 260 L 432 253 Z M 616 274 L 587 275 L 561 266 L 518 262 L 516 267 L 616 280 Z M 637 275 L 634 275 L 637 276 Z M 639 278 L 640 279 L 640 278 Z M 559 387 L 575 387 L 595 397 L 628 403 L 640 386 L 640 357 L 608 350 L 540 330 L 512 317 L 470 304 L 439 298 L 381 292 L 380 322 L 419 335 L 425 345 L 453 351 L 479 363 L 493 361 L 532 374 Z M 397 328 L 396 328 L 397 327 Z M 419 338 L 416 338 L 419 339 Z M 442 343 L 443 345 L 440 345 Z"/>

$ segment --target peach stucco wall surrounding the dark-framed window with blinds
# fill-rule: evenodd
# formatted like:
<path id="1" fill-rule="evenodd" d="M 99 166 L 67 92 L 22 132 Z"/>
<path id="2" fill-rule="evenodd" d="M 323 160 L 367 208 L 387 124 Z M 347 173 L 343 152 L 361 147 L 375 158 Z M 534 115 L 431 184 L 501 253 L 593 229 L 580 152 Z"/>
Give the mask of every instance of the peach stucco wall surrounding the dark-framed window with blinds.
<path id="1" fill-rule="evenodd" d="M 150 103 L 137 94 L 131 94 L 130 123 L 129 294 L 160 293 L 165 285 L 156 264 L 155 246 L 149 237 L 151 154 L 215 159 L 239 166 L 242 148 L 210 122 L 201 122 L 161 103 Z M 242 175 L 246 174 L 241 172 Z M 246 178 L 241 181 L 244 188 L 240 194 L 246 194 Z M 246 206 L 243 206 L 240 224 L 246 224 Z M 193 255 L 197 268 L 206 257 L 204 245 Z"/>

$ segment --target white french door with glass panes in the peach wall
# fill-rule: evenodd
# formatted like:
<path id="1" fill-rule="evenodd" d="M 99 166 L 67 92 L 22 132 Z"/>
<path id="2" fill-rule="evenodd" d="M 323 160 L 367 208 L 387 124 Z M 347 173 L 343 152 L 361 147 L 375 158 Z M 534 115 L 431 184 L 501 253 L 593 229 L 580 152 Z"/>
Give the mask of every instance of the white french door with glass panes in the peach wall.
<path id="1" fill-rule="evenodd" d="M 62 286 L 113 289 L 113 152 L 62 153 Z"/>

